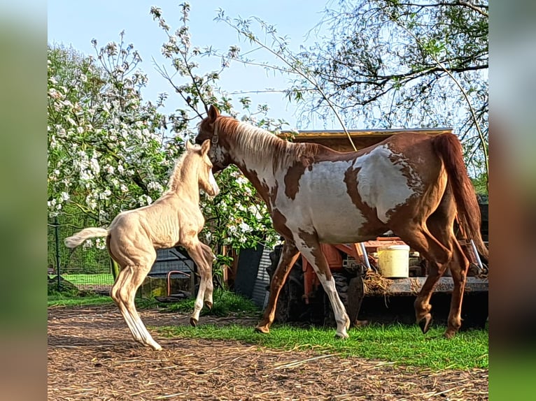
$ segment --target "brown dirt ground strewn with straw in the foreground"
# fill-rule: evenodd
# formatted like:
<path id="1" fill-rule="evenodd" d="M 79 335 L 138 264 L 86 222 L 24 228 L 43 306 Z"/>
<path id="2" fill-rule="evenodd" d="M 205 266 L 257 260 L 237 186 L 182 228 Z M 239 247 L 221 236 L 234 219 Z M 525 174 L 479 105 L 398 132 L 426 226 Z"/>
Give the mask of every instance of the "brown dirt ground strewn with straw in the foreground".
<path id="1" fill-rule="evenodd" d="M 153 327 L 189 319 L 141 318 Z M 233 321 L 202 316 L 199 329 L 209 322 Z M 48 400 L 488 400 L 488 370 L 431 372 L 149 330 L 164 351 L 134 342 L 115 306 L 48 309 Z"/>

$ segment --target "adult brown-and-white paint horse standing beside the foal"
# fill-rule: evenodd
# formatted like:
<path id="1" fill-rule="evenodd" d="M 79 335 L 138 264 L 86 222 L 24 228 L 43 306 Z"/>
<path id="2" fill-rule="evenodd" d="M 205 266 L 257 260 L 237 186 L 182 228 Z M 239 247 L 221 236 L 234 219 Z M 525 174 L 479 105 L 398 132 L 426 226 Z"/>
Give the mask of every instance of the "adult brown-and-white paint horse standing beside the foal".
<path id="1" fill-rule="evenodd" d="M 421 330 L 430 327 L 434 286 L 450 269 L 454 286 L 444 335 L 458 332 L 469 261 L 456 240 L 455 219 L 479 253 L 487 258 L 488 250 L 456 136 L 400 133 L 358 152 L 341 153 L 281 140 L 211 106 L 196 142 L 207 139 L 213 170 L 236 165 L 267 204 L 274 229 L 285 240 L 256 330 L 269 333 L 278 294 L 301 252 L 330 299 L 337 336 L 348 337 L 350 320 L 320 243 L 362 242 L 392 230 L 429 262 L 429 275 L 414 302 Z"/>

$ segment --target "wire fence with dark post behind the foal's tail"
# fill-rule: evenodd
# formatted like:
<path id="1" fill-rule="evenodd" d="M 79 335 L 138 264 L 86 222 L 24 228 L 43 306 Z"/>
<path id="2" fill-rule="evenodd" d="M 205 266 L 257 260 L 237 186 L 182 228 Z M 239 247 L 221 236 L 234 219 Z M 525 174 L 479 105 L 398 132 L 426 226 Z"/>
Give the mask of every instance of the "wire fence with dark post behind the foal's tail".
<path id="1" fill-rule="evenodd" d="M 75 249 L 64 245 L 64 239 L 81 228 L 62 222 L 61 217 L 48 220 L 49 289 L 60 291 L 63 278 L 79 290 L 108 293 L 113 285 L 108 251 L 97 248 L 95 242 Z"/>

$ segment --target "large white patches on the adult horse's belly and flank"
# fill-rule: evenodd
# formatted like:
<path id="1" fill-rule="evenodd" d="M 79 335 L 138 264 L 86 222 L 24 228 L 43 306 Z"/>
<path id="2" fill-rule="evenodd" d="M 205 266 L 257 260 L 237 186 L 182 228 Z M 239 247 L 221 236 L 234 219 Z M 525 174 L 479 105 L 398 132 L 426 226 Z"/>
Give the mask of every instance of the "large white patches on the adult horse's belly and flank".
<path id="1" fill-rule="evenodd" d="M 314 228 L 320 242 L 360 242 L 374 238 L 378 233 L 359 235 L 360 228 L 374 217 L 365 217 L 355 206 L 344 180 L 349 168 L 360 168 L 358 193 L 363 203 L 376 209 L 377 219 L 387 224 L 389 212 L 416 194 L 402 169 L 410 173 L 411 180 L 419 187 L 421 183 L 407 162 L 400 159 L 393 163 L 390 156 L 395 154 L 387 146 L 382 146 L 355 161 L 315 163 L 299 178 L 299 190 L 294 201 L 285 195 L 284 190 L 278 191 L 277 208 L 287 218 L 291 230 Z"/>

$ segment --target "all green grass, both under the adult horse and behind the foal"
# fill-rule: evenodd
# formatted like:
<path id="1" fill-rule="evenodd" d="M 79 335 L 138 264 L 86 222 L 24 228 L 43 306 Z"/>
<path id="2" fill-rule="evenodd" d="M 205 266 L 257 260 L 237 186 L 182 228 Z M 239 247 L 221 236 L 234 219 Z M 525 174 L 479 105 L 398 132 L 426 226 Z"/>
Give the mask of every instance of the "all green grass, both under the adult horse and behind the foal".
<path id="1" fill-rule="evenodd" d="M 202 316 L 234 316 L 260 318 L 260 310 L 251 300 L 230 291 L 214 291 L 214 306 L 203 308 Z M 76 307 L 81 305 L 112 305 L 109 296 L 73 297 L 55 294 L 48 297 L 49 307 Z M 165 304 L 156 300 L 136 298 L 138 309 L 162 309 L 164 312 L 190 314 L 194 300 L 182 300 Z M 335 340 L 334 328 L 297 328 L 275 324 L 268 335 L 255 333 L 251 321 L 247 326 L 231 324 L 215 326 L 201 324 L 152 328 L 177 338 L 199 338 L 256 344 L 259 347 L 288 350 L 312 350 L 320 354 L 338 354 L 342 357 L 357 356 L 372 360 L 384 360 L 393 364 L 427 367 L 432 370 L 488 368 L 488 330 L 468 330 L 458 333 L 451 340 L 443 335 L 443 326 L 432 326 L 423 335 L 418 326 L 393 324 L 371 325 L 351 329 L 347 340 Z"/>

